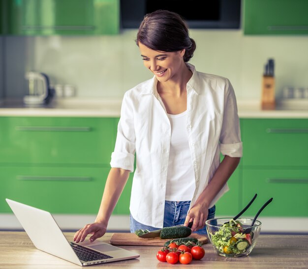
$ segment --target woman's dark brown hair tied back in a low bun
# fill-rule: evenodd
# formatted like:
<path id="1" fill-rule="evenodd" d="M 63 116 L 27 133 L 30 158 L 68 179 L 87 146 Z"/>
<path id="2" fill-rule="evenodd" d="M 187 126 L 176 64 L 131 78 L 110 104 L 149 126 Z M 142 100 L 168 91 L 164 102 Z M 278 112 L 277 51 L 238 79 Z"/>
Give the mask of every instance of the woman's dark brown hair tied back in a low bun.
<path id="1" fill-rule="evenodd" d="M 177 52 L 185 49 L 188 62 L 196 49 L 189 37 L 188 27 L 181 15 L 168 10 L 156 10 L 145 15 L 137 33 L 136 44 L 142 43 L 154 51 Z"/>

